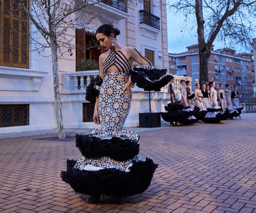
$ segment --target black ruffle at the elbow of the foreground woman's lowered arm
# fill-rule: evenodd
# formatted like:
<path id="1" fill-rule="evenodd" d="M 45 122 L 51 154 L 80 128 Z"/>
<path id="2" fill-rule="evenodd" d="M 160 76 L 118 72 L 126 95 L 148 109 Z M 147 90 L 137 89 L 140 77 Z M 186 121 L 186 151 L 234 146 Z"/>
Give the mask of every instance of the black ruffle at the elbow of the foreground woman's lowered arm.
<path id="1" fill-rule="evenodd" d="M 90 81 L 90 84 L 86 87 L 85 100 L 89 101 L 92 104 L 95 104 L 96 97 L 99 96 L 99 90 L 96 89 L 94 86 L 96 85 L 101 86 L 102 82 L 103 80 L 99 76 L 96 76 L 96 78 L 93 78 Z"/>

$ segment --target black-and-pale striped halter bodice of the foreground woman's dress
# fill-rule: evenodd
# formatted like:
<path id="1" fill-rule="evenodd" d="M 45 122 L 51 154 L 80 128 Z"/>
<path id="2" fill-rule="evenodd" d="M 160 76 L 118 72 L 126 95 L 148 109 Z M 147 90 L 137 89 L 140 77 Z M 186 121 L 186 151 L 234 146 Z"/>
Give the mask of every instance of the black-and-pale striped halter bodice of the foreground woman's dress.
<path id="1" fill-rule="evenodd" d="M 131 65 L 125 55 L 120 51 L 111 52 L 103 63 L 102 71 L 105 74 L 108 72 L 108 68 L 116 66 L 119 72 L 129 75 L 131 71 Z"/>

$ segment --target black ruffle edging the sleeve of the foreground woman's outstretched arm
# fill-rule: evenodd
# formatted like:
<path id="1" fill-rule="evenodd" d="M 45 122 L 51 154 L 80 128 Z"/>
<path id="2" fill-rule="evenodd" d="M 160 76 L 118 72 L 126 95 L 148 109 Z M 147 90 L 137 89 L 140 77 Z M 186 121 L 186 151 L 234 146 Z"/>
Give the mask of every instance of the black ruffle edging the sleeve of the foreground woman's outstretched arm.
<path id="1" fill-rule="evenodd" d="M 140 73 L 135 71 L 131 72 L 131 81 L 136 83 L 138 87 L 144 89 L 145 91 L 160 92 L 161 88 L 166 86 L 174 78 L 172 75 L 165 75 L 160 80 L 152 82 L 145 79 L 145 75 L 141 75 Z"/>

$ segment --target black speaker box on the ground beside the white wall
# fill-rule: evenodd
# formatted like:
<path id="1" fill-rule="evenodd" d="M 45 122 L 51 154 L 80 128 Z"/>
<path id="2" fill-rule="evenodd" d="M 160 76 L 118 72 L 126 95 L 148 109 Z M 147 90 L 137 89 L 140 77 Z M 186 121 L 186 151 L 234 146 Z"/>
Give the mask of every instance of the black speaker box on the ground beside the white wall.
<path id="1" fill-rule="evenodd" d="M 139 127 L 161 127 L 160 112 L 139 113 Z"/>

